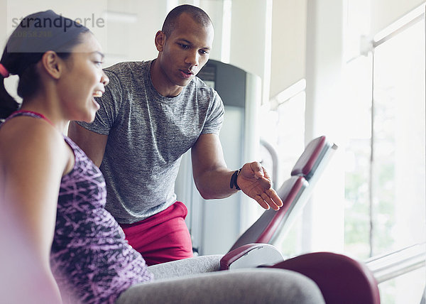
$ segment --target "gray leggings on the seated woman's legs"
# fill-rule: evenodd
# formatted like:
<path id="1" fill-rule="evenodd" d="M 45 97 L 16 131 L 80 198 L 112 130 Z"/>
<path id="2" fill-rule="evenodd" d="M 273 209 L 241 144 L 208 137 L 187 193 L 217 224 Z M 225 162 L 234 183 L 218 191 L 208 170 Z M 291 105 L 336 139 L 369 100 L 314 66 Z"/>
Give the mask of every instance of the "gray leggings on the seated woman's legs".
<path id="1" fill-rule="evenodd" d="M 222 256 L 198 256 L 150 266 L 155 280 L 131 286 L 116 304 L 324 303 L 317 285 L 300 273 L 253 268 L 219 271 Z"/>

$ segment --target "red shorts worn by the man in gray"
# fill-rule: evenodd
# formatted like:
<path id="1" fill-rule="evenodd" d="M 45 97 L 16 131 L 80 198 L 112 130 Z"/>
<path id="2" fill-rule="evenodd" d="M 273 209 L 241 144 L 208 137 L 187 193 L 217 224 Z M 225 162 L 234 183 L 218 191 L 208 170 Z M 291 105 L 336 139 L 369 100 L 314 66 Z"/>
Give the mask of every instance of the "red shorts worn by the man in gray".
<path id="1" fill-rule="evenodd" d="M 192 257 L 192 241 L 185 224 L 187 213 L 182 202 L 175 202 L 148 219 L 120 226 L 129 244 L 151 266 Z"/>

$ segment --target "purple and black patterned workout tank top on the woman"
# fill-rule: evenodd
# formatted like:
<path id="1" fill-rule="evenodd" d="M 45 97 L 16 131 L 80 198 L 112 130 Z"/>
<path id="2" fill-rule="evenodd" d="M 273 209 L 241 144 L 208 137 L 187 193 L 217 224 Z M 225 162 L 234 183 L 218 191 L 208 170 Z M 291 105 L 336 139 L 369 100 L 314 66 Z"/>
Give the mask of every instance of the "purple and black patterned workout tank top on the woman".
<path id="1" fill-rule="evenodd" d="M 22 115 L 45 119 L 16 112 L 6 121 Z M 153 275 L 104 209 L 107 190 L 101 171 L 71 139 L 64 139 L 74 151 L 75 165 L 60 184 L 50 266 L 64 303 L 114 303 L 127 288 Z"/>

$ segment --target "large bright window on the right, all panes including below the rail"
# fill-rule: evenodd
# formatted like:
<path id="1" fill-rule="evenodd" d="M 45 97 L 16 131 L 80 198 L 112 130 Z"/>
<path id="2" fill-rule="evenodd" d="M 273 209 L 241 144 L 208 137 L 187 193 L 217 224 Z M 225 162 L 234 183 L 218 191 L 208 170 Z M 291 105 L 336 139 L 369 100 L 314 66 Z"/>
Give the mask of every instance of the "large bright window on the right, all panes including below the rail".
<path id="1" fill-rule="evenodd" d="M 426 241 L 425 19 L 346 65 L 345 252 L 366 259 Z M 379 285 L 382 303 L 420 303 L 425 269 Z"/>

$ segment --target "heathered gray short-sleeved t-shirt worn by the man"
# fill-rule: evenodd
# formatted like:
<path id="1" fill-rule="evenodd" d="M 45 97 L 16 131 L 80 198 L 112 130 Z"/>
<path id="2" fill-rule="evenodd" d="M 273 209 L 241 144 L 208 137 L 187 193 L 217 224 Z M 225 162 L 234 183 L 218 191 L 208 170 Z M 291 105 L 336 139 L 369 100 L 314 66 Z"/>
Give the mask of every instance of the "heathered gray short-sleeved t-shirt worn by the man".
<path id="1" fill-rule="evenodd" d="M 195 77 L 173 98 L 151 81 L 151 63 L 107 67 L 109 85 L 101 108 L 84 128 L 107 134 L 100 169 L 107 182 L 106 208 L 121 224 L 141 221 L 176 201 L 182 155 L 201 134 L 219 134 L 224 105 L 214 89 Z"/>

